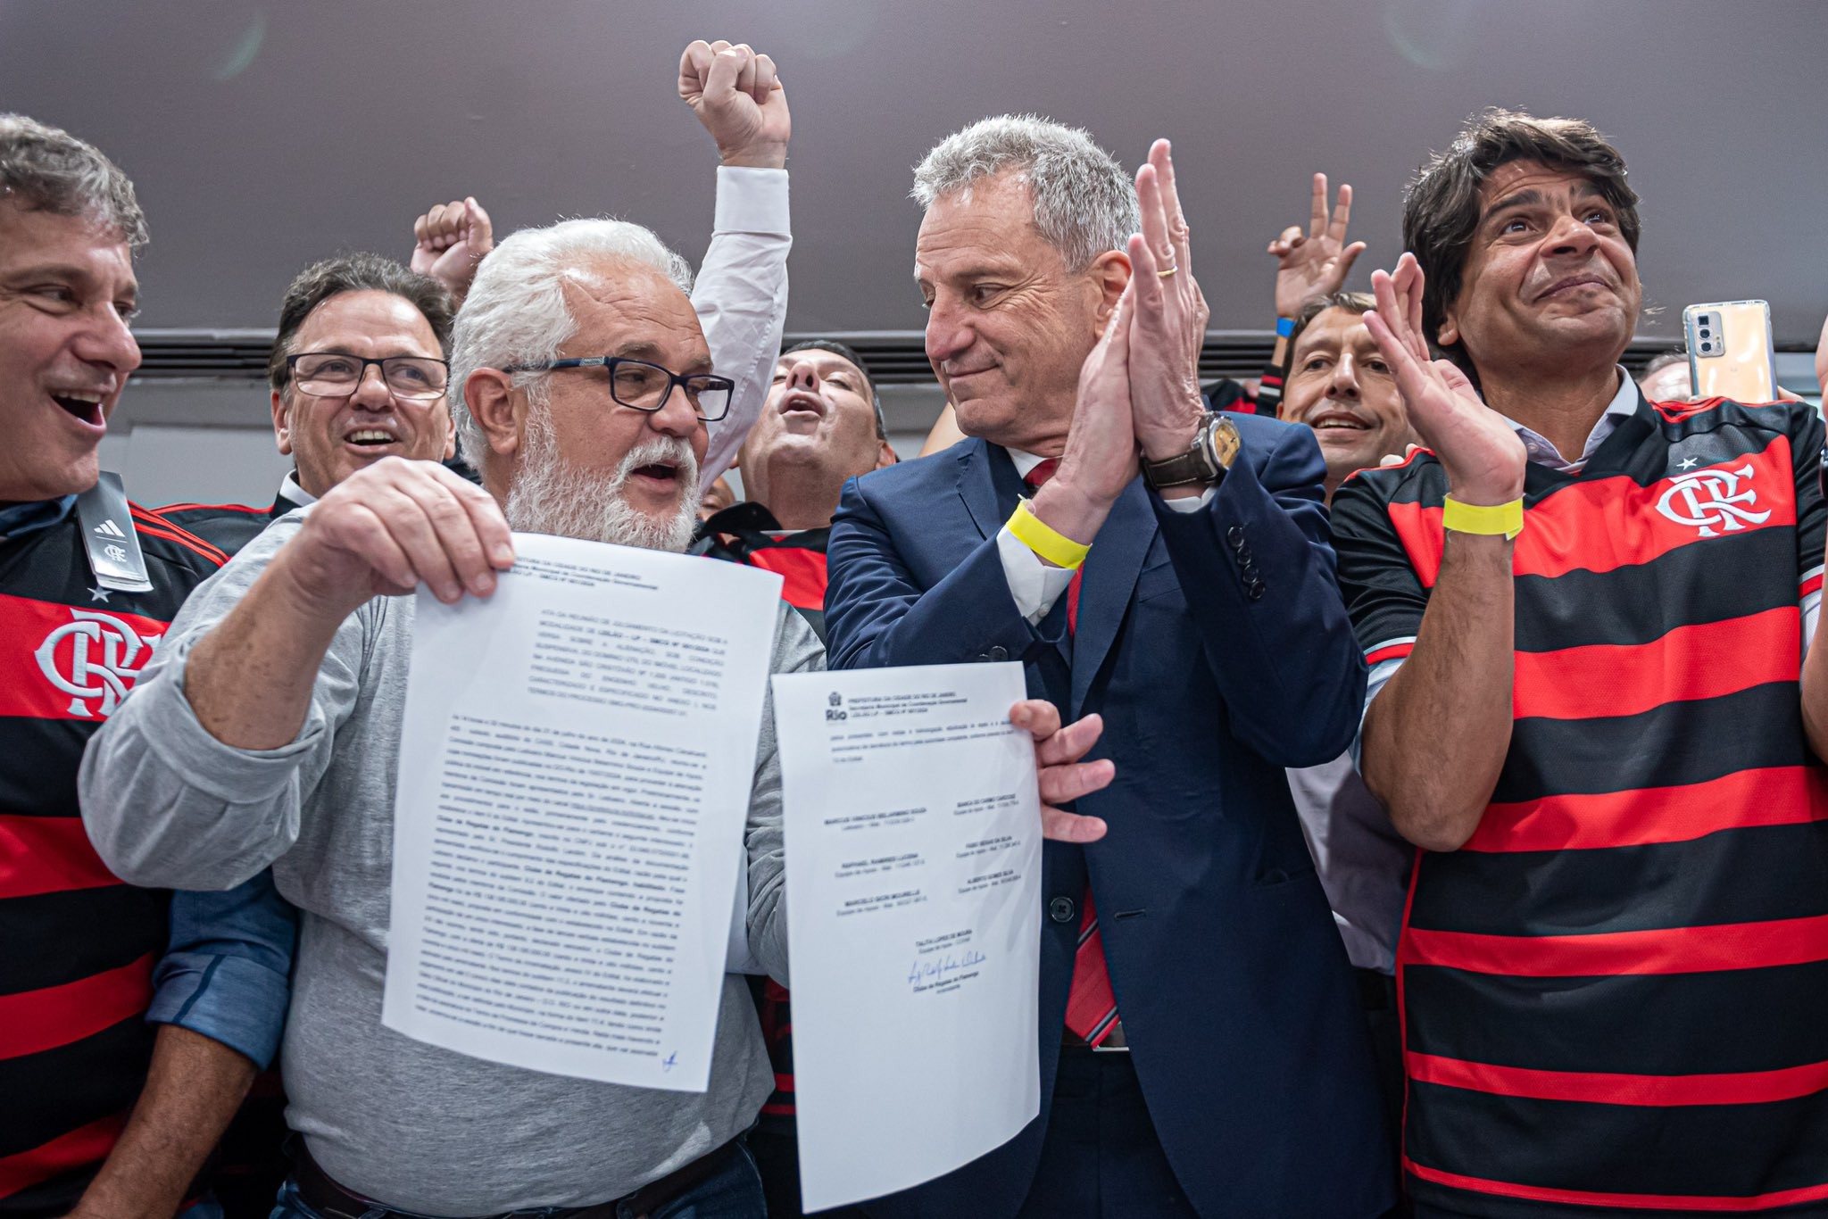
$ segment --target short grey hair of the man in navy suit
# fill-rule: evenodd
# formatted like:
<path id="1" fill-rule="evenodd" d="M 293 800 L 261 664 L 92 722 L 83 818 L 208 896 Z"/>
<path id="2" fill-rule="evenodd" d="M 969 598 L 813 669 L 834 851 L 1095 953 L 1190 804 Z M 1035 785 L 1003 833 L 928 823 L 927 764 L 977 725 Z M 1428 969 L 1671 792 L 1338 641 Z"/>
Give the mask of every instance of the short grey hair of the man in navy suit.
<path id="1" fill-rule="evenodd" d="M 934 199 L 1013 172 L 1035 201 L 1035 228 L 1079 272 L 1106 250 L 1121 250 L 1142 228 L 1137 188 L 1117 157 L 1091 133 L 1042 119 L 982 119 L 934 144 L 914 166 L 914 201 Z"/>

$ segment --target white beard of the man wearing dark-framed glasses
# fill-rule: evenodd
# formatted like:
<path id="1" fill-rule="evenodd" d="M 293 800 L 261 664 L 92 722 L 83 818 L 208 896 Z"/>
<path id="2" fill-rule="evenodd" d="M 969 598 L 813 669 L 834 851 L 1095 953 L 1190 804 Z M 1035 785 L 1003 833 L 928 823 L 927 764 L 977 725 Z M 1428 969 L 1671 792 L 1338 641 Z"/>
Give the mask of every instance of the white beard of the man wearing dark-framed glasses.
<path id="1" fill-rule="evenodd" d="M 623 486 L 636 468 L 664 459 L 678 470 L 680 506 L 669 519 L 656 519 L 629 504 Z M 536 408 L 526 420 L 526 453 L 503 514 L 508 528 L 523 534 L 682 554 L 698 525 L 698 459 L 678 437 L 653 437 L 629 450 L 614 473 L 576 470 L 559 455 L 550 417 Z"/>

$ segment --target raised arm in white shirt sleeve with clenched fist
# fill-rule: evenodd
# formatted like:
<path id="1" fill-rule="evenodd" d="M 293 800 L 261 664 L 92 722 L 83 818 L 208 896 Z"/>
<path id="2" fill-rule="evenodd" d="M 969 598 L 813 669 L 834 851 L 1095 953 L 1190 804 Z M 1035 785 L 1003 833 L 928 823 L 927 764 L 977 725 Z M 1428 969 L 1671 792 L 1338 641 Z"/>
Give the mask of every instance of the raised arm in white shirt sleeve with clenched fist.
<path id="1" fill-rule="evenodd" d="M 691 303 L 711 366 L 737 382 L 711 424 L 700 466 L 709 486 L 762 413 L 788 318 L 788 139 L 793 117 L 775 62 L 746 42 L 693 42 L 680 55 L 680 99 L 717 141 L 717 219 Z"/>

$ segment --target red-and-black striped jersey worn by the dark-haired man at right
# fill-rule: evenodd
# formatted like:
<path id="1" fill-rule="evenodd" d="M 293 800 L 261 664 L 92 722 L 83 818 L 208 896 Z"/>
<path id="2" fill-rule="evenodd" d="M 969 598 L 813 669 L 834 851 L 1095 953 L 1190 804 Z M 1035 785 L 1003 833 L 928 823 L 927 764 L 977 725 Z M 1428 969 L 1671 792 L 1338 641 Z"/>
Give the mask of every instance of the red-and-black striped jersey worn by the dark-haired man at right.
<path id="1" fill-rule="evenodd" d="M 1806 404 L 1640 397 L 1579 473 L 1528 466 L 1510 753 L 1397 952 L 1419 1201 L 1828 1210 L 1821 457 Z M 1419 453 L 1334 497 L 1373 665 L 1420 634 L 1446 490 Z"/>

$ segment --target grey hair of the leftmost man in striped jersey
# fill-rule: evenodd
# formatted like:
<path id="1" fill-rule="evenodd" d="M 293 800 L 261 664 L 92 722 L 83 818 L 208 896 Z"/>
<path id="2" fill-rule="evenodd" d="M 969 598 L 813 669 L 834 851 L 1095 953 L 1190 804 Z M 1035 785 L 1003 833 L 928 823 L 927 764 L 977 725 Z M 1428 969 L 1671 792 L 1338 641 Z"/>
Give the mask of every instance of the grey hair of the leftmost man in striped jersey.
<path id="1" fill-rule="evenodd" d="M 26 212 L 91 219 L 135 254 L 150 236 L 121 166 L 95 144 L 26 115 L 0 113 L 0 197 Z"/>

